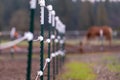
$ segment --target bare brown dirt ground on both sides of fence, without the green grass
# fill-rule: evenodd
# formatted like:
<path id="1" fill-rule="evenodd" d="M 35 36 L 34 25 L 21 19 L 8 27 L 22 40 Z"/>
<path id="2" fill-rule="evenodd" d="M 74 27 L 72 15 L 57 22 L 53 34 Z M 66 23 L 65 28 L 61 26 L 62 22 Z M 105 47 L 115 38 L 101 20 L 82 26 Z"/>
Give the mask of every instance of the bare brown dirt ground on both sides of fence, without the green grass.
<path id="1" fill-rule="evenodd" d="M 92 66 L 92 68 L 98 75 L 97 80 L 120 80 L 120 72 L 108 70 L 106 64 L 109 63 L 109 61 L 103 60 L 103 57 L 107 56 L 114 56 L 120 60 L 120 46 L 104 47 L 102 50 L 100 46 L 85 47 L 84 53 L 80 53 L 78 48 L 67 46 L 66 52 L 73 56 L 72 58 L 67 57 L 67 61 L 75 60 L 93 63 L 94 66 Z M 88 52 L 90 52 L 90 54 L 88 54 Z M 2 51 L 0 54 L 0 80 L 26 80 L 26 63 L 27 53 L 15 53 L 14 58 L 12 58 L 8 51 Z M 34 53 L 31 80 L 35 80 L 39 65 L 39 54 Z"/>

